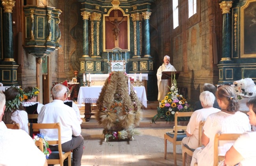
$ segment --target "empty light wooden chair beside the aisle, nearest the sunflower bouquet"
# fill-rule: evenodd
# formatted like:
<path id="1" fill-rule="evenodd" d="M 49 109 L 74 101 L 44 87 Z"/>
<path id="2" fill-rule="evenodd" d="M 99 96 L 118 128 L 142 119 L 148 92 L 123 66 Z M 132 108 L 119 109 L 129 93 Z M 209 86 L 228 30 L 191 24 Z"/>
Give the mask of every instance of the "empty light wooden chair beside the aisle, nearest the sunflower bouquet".
<path id="1" fill-rule="evenodd" d="M 173 158 L 174 158 L 174 165 L 177 165 L 176 161 L 176 145 L 181 145 L 182 139 L 186 136 L 186 133 L 179 134 L 178 131 L 180 129 L 186 130 L 187 126 L 180 126 L 178 125 L 178 117 L 188 117 L 191 116 L 193 112 L 176 112 L 175 118 L 174 118 L 174 127 L 175 131 L 174 134 L 171 134 L 169 132 L 165 133 L 164 135 L 164 144 L 165 144 L 165 152 L 164 152 L 164 159 L 166 159 L 166 153 L 167 153 L 167 140 L 173 143 Z"/>

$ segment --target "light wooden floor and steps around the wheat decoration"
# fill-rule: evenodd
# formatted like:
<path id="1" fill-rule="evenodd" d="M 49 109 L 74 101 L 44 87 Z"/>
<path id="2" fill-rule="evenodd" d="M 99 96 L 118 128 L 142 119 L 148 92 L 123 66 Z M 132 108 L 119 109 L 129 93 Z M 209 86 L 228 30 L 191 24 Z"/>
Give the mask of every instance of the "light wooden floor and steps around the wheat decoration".
<path id="1" fill-rule="evenodd" d="M 152 124 L 158 102 L 148 103 L 143 110 L 141 124 L 136 129 L 141 133 L 134 140 L 104 142 L 103 127 L 98 125 L 94 116 L 89 122 L 83 122 L 82 136 L 85 149 L 82 166 L 173 166 L 173 144 L 167 141 L 167 159 L 163 159 L 163 135 L 171 131 L 172 123 L 163 121 Z M 94 111 L 93 111 L 94 112 Z M 83 118 L 83 108 L 80 109 Z M 176 148 L 177 165 L 182 166 L 181 146 Z M 56 164 L 55 166 L 58 166 Z"/>

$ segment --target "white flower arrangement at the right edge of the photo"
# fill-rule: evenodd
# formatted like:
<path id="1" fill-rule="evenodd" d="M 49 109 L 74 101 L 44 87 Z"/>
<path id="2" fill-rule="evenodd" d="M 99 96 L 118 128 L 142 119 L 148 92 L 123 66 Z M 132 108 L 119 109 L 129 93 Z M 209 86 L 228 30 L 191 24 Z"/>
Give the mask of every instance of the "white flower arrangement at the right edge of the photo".
<path id="1" fill-rule="evenodd" d="M 256 87 L 251 78 L 240 79 L 233 82 L 233 87 L 237 94 L 237 99 L 241 100 L 243 97 L 253 97 L 256 95 Z"/>

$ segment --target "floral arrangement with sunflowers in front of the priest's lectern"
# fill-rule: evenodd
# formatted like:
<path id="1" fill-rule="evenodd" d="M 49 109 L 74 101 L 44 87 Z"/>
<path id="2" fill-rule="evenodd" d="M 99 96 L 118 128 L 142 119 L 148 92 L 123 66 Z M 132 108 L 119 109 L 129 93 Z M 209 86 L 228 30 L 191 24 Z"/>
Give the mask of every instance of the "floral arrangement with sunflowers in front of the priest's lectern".
<path id="1" fill-rule="evenodd" d="M 174 114 L 177 111 L 193 111 L 187 100 L 181 94 L 178 94 L 175 76 L 172 80 L 172 86 L 171 88 L 169 87 L 169 89 L 170 92 L 168 92 L 161 101 L 160 106 L 157 108 L 157 114 L 152 118 L 152 123 L 155 123 L 159 118 L 163 118 L 165 121 L 174 121 Z"/>

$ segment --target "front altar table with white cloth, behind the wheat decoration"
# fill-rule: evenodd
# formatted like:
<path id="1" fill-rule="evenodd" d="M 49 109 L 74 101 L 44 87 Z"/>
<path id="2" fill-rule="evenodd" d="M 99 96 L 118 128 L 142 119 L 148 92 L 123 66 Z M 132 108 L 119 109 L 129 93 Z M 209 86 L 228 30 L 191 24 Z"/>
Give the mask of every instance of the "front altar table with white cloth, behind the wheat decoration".
<path id="1" fill-rule="evenodd" d="M 95 74 L 98 75 L 98 74 Z M 82 106 L 82 103 L 85 103 L 85 120 L 89 121 L 91 118 L 91 106 L 92 103 L 96 103 L 98 96 L 101 92 L 103 86 L 93 86 L 93 87 L 80 87 L 78 92 L 78 107 Z M 141 100 L 144 107 L 147 107 L 147 95 L 145 87 L 134 87 L 134 90 L 137 93 L 139 100 Z"/>

